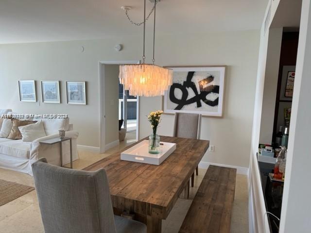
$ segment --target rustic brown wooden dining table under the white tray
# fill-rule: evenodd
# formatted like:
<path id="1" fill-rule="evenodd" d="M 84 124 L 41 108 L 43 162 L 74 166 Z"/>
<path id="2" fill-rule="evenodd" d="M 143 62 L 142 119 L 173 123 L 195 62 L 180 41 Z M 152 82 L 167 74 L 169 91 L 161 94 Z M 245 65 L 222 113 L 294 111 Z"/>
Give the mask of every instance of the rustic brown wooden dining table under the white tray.
<path id="1" fill-rule="evenodd" d="M 161 233 L 162 219 L 189 187 L 190 177 L 209 147 L 207 140 L 169 136 L 160 139 L 176 143 L 176 150 L 158 166 L 123 161 L 123 149 L 84 168 L 105 169 L 114 212 L 133 214 L 135 220 L 147 225 L 147 233 Z"/>

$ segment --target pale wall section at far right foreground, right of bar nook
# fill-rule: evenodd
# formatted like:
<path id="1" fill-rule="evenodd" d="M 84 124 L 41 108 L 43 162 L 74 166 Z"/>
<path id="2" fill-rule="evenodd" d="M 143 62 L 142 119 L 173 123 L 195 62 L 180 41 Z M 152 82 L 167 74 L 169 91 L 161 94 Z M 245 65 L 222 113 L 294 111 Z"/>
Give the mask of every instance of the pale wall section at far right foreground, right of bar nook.
<path id="1" fill-rule="evenodd" d="M 302 1 L 280 233 L 311 229 L 311 2 Z"/>

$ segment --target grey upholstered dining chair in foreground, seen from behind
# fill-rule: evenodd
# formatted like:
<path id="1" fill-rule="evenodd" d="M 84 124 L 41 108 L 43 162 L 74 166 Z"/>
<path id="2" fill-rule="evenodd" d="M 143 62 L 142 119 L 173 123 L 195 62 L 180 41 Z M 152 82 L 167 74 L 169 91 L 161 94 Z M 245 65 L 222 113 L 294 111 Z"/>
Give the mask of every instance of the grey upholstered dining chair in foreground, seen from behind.
<path id="1" fill-rule="evenodd" d="M 104 169 L 73 170 L 45 158 L 32 168 L 45 233 L 146 233 L 145 224 L 113 214 Z"/>

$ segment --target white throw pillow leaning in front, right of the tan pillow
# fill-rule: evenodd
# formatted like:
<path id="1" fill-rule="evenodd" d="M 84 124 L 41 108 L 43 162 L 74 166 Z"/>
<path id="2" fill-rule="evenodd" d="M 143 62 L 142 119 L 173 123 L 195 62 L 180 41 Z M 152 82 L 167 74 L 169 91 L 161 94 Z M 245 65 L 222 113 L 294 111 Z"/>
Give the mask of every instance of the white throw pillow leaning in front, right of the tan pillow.
<path id="1" fill-rule="evenodd" d="M 20 131 L 22 135 L 23 142 L 32 142 L 35 139 L 46 136 L 43 123 L 41 120 L 39 120 L 35 124 L 19 126 L 18 130 Z"/>

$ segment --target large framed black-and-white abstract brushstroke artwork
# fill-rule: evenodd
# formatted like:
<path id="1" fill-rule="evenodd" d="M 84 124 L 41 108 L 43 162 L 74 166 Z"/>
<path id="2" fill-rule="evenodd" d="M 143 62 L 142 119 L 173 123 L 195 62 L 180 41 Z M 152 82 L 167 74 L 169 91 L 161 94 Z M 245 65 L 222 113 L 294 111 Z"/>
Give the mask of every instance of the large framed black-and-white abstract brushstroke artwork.
<path id="1" fill-rule="evenodd" d="M 225 66 L 168 68 L 173 69 L 173 85 L 164 94 L 164 113 L 223 116 Z"/>

